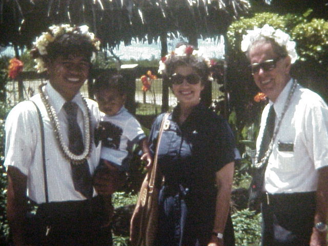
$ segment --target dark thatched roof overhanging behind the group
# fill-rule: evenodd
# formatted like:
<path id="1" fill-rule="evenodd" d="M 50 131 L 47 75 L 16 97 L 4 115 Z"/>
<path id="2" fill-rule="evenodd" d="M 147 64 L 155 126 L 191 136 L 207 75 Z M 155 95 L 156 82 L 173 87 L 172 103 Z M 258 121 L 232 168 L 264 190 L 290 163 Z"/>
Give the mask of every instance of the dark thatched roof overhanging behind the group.
<path id="1" fill-rule="evenodd" d="M 249 8 L 247 0 L 0 0 L 0 45 L 29 47 L 58 23 L 89 25 L 103 48 L 176 32 L 213 37 Z"/>

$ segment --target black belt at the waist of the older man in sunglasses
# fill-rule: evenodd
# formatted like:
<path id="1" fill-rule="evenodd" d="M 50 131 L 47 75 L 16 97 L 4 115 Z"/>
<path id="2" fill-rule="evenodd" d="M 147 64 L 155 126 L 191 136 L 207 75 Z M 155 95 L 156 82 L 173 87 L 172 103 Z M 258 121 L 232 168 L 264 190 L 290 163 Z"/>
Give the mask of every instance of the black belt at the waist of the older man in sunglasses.
<path id="1" fill-rule="evenodd" d="M 262 195 L 262 202 L 268 205 L 282 203 L 282 202 L 298 202 L 303 199 L 315 199 L 316 192 L 295 192 L 295 193 L 277 193 L 270 194 L 264 192 Z"/>

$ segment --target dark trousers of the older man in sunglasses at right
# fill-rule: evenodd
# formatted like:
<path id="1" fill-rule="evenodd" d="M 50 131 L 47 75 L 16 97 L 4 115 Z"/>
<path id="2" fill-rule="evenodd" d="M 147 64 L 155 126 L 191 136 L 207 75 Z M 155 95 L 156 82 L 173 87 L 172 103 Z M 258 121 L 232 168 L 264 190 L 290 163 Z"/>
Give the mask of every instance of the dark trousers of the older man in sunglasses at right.
<path id="1" fill-rule="evenodd" d="M 314 226 L 315 192 L 264 194 L 262 246 L 309 246 Z"/>

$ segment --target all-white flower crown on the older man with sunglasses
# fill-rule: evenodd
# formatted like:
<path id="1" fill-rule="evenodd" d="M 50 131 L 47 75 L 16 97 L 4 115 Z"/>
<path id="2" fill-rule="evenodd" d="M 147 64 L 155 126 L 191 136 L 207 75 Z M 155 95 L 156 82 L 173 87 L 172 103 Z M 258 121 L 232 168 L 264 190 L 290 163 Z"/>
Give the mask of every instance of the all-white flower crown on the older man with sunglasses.
<path id="1" fill-rule="evenodd" d="M 255 27 L 254 30 L 247 30 L 247 35 L 242 36 L 241 51 L 246 52 L 250 49 L 252 44 L 259 37 L 273 38 L 279 46 L 285 46 L 288 55 L 291 57 L 291 63 L 295 63 L 298 55 L 295 50 L 295 42 L 291 40 L 290 35 L 281 31 L 280 29 L 275 30 L 273 27 L 265 24 L 262 28 Z"/>

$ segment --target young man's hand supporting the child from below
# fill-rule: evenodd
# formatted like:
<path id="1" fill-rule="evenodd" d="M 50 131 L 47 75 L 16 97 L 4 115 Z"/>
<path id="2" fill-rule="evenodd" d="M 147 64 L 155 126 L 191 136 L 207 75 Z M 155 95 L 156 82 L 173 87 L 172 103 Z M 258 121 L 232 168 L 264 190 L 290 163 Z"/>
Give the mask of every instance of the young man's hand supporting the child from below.
<path id="1" fill-rule="evenodd" d="M 109 161 L 103 161 L 105 165 L 95 171 L 93 186 L 99 195 L 109 196 L 124 185 L 126 174 L 112 166 Z"/>

